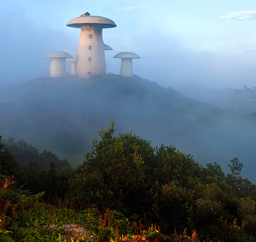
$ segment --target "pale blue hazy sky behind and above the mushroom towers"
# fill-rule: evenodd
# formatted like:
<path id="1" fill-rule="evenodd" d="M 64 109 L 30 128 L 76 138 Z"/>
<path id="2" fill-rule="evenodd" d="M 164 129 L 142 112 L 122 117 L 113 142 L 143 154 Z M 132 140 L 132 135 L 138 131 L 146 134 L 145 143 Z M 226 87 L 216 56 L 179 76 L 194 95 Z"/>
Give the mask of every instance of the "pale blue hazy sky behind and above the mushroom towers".
<path id="1" fill-rule="evenodd" d="M 141 57 L 133 62 L 134 73 L 164 87 L 256 86 L 256 6 L 251 0 L 1 0 L 2 82 L 45 75 L 47 52 L 75 55 L 79 29 L 66 24 L 84 12 L 117 24 L 103 31 L 114 49 L 106 52 L 107 72 L 119 73 L 119 60 L 112 57 L 131 51 Z"/>

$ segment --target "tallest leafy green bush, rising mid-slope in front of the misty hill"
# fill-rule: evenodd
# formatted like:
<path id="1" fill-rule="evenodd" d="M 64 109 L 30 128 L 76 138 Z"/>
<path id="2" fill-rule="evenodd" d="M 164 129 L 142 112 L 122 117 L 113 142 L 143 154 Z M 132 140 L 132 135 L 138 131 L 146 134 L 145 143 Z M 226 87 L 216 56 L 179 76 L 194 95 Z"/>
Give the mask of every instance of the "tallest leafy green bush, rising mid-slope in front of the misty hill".
<path id="1" fill-rule="evenodd" d="M 154 148 L 148 140 L 134 134 L 114 133 L 114 122 L 108 131 L 99 132 L 100 142 L 93 140 L 92 150 L 85 155 L 83 163 L 90 173 L 100 172 L 104 184 L 114 193 L 118 202 L 133 212 L 142 212 L 145 199 L 150 196 L 154 163 Z"/>

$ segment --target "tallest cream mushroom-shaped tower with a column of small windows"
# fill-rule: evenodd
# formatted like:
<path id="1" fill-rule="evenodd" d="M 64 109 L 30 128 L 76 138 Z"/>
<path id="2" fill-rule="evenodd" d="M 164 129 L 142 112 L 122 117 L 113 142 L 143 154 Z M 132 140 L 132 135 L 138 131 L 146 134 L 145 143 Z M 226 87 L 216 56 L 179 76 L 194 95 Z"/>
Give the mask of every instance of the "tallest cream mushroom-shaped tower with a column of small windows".
<path id="1" fill-rule="evenodd" d="M 68 27 L 81 28 L 75 72 L 78 77 L 104 75 L 106 62 L 102 39 L 103 28 L 114 28 L 116 24 L 109 18 L 91 16 L 88 12 L 68 22 Z"/>

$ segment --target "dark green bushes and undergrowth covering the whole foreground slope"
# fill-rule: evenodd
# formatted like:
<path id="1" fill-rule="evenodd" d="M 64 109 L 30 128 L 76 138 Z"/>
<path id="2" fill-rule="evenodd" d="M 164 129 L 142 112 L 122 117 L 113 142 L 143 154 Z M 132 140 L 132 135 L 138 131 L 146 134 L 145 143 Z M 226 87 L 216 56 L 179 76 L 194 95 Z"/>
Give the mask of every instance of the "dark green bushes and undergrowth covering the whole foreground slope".
<path id="1" fill-rule="evenodd" d="M 256 241 L 256 188 L 238 158 L 224 174 L 173 146 L 114 136 L 114 123 L 99 134 L 75 169 L 49 152 L 41 167 L 32 146 L 9 140 L 26 150 L 21 165 L 0 142 L 0 241 Z"/>

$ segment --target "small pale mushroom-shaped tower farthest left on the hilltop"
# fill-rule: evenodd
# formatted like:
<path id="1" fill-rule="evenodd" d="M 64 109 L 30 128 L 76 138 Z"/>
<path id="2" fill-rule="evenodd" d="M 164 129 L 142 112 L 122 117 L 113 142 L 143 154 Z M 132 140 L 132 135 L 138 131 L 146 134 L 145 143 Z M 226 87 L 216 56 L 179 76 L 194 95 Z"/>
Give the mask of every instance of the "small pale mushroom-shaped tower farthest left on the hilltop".
<path id="1" fill-rule="evenodd" d="M 52 58 L 50 75 L 51 77 L 64 77 L 66 75 L 66 58 L 73 58 L 65 51 L 52 51 L 46 54 L 46 58 Z"/>

